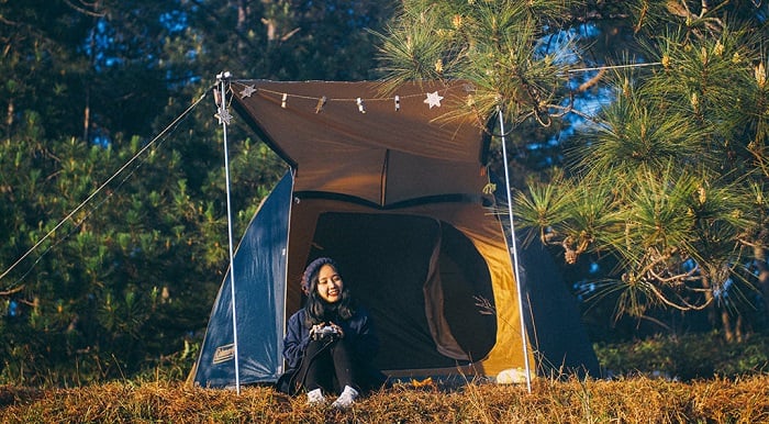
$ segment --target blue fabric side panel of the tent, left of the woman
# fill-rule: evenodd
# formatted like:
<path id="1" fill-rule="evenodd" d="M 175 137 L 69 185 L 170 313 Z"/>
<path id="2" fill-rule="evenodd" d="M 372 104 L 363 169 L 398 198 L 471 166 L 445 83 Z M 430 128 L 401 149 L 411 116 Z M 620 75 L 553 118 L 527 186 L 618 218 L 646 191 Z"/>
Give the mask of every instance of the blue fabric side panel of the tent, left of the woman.
<path id="1" fill-rule="evenodd" d="M 234 256 L 239 380 L 272 382 L 282 372 L 288 228 L 293 177 L 289 171 L 264 201 Z M 227 271 L 211 312 L 194 382 L 235 381 L 231 278 Z"/>

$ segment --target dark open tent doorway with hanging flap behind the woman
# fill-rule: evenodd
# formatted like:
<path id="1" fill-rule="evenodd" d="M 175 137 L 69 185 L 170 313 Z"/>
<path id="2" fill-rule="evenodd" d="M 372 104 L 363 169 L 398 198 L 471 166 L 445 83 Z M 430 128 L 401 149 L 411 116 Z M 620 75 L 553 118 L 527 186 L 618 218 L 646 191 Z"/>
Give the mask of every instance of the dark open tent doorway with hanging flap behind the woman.
<path id="1" fill-rule="evenodd" d="M 445 222 L 392 213 L 326 212 L 310 260 L 331 256 L 375 319 L 382 370 L 435 369 L 483 359 L 494 346 L 491 276 L 470 239 Z"/>

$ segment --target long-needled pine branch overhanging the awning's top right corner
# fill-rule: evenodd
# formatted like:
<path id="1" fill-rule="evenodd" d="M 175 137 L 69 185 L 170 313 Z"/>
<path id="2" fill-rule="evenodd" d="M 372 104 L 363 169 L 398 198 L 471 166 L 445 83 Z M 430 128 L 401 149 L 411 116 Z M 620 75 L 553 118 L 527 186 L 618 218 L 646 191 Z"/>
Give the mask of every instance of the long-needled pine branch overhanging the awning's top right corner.
<path id="1" fill-rule="evenodd" d="M 458 116 L 486 122 L 501 108 L 510 120 L 549 124 L 573 53 L 553 43 L 564 16 L 581 1 L 403 1 L 382 38 L 381 62 L 390 89 L 406 80 L 471 82 L 467 99 L 454 99 Z M 457 118 L 457 116 L 448 116 Z"/>

